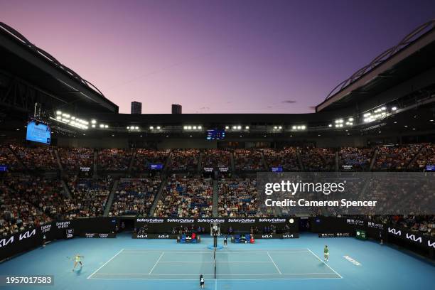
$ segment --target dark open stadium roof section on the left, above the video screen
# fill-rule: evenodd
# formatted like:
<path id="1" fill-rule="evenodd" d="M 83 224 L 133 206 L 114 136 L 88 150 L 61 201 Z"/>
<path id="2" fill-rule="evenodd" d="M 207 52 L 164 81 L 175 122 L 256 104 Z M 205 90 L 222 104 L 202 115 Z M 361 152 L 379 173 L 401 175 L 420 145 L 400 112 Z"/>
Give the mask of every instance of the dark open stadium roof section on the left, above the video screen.
<path id="1" fill-rule="evenodd" d="M 0 69 L 21 77 L 65 103 L 65 107 L 97 112 L 118 112 L 92 83 L 83 79 L 52 55 L 28 41 L 21 33 L 0 22 Z"/>

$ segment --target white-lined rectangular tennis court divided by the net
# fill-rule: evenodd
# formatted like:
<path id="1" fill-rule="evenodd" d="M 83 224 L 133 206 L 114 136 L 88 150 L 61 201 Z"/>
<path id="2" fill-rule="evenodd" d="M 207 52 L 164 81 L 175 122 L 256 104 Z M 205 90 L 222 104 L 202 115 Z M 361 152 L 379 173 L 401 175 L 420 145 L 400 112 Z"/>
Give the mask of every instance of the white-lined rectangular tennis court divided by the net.
<path id="1" fill-rule="evenodd" d="M 341 279 L 310 249 L 121 249 L 88 279 Z"/>

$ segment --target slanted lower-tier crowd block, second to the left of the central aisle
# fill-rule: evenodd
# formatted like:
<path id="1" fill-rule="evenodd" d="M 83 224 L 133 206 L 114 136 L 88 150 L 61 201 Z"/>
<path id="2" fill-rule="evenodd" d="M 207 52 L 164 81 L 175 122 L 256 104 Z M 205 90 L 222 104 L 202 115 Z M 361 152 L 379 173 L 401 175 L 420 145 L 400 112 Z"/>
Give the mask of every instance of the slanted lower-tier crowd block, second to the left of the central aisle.
<path id="1" fill-rule="evenodd" d="M 148 215 L 161 178 L 123 178 L 115 191 L 110 216 Z"/>

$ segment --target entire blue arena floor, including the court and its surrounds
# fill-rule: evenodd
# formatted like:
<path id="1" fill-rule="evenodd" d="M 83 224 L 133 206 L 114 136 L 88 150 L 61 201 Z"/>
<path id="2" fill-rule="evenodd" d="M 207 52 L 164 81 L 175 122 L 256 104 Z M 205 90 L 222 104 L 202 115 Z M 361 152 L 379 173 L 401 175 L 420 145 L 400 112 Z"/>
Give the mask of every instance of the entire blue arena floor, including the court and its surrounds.
<path id="1" fill-rule="evenodd" d="M 221 242 L 221 241 L 220 241 Z M 175 240 L 60 240 L 0 264 L 2 275 L 53 274 L 54 286 L 2 289 L 434 289 L 434 264 L 375 242 L 303 234 L 294 240 L 231 244 L 216 254 Z M 323 247 L 330 248 L 329 262 Z M 67 257 L 85 256 L 73 272 Z M 216 279 L 214 279 L 216 273 Z"/>

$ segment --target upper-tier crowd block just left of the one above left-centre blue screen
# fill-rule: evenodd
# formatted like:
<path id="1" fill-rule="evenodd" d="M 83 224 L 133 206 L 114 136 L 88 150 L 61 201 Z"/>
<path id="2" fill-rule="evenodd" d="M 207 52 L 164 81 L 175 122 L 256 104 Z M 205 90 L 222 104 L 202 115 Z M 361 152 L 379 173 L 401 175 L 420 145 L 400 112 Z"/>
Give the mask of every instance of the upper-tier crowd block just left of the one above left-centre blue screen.
<path id="1" fill-rule="evenodd" d="M 131 161 L 131 150 L 100 149 L 98 169 L 102 171 L 127 171 Z"/>

